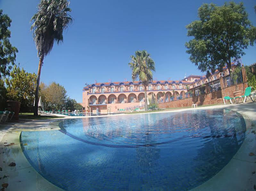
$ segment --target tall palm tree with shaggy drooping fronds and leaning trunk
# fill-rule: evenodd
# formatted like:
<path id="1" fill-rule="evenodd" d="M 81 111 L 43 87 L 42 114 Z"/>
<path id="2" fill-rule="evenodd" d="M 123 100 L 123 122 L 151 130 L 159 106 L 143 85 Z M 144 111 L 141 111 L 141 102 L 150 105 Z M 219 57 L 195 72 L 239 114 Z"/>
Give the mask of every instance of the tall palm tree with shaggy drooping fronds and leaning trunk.
<path id="1" fill-rule="evenodd" d="M 38 12 L 31 18 L 31 21 L 34 22 L 31 26 L 31 31 L 33 31 L 39 57 L 34 107 L 35 116 L 38 115 L 38 92 L 43 60 L 51 52 L 54 41 L 57 44 L 63 42 L 63 30 L 72 22 L 72 17 L 68 14 L 71 9 L 68 6 L 69 2 L 67 0 L 41 0 L 38 5 Z"/>

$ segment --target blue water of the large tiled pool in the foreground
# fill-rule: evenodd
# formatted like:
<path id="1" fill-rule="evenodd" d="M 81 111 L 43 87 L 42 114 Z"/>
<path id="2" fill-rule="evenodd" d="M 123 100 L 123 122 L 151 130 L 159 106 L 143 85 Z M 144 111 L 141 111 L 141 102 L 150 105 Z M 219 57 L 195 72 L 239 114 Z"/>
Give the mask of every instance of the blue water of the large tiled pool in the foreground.
<path id="1" fill-rule="evenodd" d="M 63 120 L 24 131 L 24 155 L 64 190 L 188 190 L 218 173 L 240 148 L 244 118 L 195 110 Z"/>

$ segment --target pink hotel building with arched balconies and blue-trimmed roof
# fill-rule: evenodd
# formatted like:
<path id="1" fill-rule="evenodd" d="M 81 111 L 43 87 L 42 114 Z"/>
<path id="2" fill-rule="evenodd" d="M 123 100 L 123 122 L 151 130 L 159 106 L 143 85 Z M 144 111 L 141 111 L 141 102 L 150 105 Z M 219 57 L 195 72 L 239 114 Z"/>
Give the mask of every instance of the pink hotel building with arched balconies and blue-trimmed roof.
<path id="1" fill-rule="evenodd" d="M 235 64 L 232 64 L 232 68 Z M 223 68 L 224 75 L 229 75 L 227 68 Z M 147 86 L 149 99 L 154 97 L 158 102 L 168 102 L 173 94 L 184 98 L 187 89 L 214 81 L 220 77 L 220 72 L 215 71 L 208 79 L 205 76 L 190 75 L 182 80 L 152 81 Z M 111 112 L 128 111 L 145 105 L 144 87 L 140 81 L 134 82 L 105 82 L 90 84 L 83 88 L 83 112 Z"/>

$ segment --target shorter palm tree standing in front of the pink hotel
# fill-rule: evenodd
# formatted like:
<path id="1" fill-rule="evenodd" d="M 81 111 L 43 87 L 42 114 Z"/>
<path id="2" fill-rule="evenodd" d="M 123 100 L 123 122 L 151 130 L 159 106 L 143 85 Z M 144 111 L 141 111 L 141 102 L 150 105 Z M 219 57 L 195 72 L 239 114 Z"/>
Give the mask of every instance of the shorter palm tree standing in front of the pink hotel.
<path id="1" fill-rule="evenodd" d="M 135 55 L 131 55 L 129 66 L 132 69 L 132 80 L 135 81 L 137 77 L 139 77 L 139 80 L 144 85 L 145 111 L 147 111 L 147 86 L 148 83 L 153 80 L 152 71 L 155 71 L 155 62 L 147 51 L 142 50 L 136 51 Z"/>

